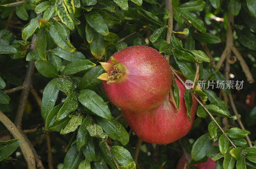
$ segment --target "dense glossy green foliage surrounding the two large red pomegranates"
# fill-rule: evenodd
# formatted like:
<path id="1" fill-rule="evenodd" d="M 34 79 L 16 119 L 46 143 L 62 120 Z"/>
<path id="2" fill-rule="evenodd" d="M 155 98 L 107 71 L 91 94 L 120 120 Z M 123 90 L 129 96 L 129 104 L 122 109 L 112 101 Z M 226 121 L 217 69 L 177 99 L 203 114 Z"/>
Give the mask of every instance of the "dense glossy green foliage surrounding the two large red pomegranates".
<path id="1" fill-rule="evenodd" d="M 0 110 L 14 119 L 20 93 L 6 94 L 4 89 L 22 86 L 26 67 L 33 63 L 36 68 L 33 87 L 42 97 L 42 107 L 38 109 L 32 96 L 28 97 L 23 128 L 39 124 L 52 131 L 55 167 L 59 164 L 61 168 L 63 164 L 64 168 L 117 168 L 117 164 L 119 168 L 135 168 L 137 137 L 120 118 L 120 109 L 108 102 L 101 80 L 97 79 L 104 72 L 99 61 L 107 61 L 113 53 L 133 45 L 151 46 L 160 53 L 171 55 L 170 64 L 176 72 L 195 83 L 225 83 L 223 89 L 193 88 L 185 92 L 189 119 L 190 92 L 202 97 L 206 108 L 198 106 L 191 131 L 181 139 L 193 159 L 189 165 L 209 157 L 224 169 L 233 168 L 235 164 L 236 168 L 256 166 L 256 148 L 249 147 L 248 140 L 244 139 L 249 134 L 252 140 L 256 136 L 256 107 L 251 110 L 255 102 L 247 97 L 251 103 L 245 104 L 246 95 L 255 91 L 255 84 L 249 83 L 252 81 L 248 78 L 250 71 L 256 71 L 254 0 L 172 0 L 173 14 L 164 8 L 163 0 L 26 0 L 11 3 L 14 1 L 0 2 Z M 233 16 L 234 21 L 230 20 Z M 168 42 L 170 17 L 174 21 Z M 36 50 L 33 50 L 35 44 Z M 229 70 L 225 70 L 222 62 L 217 64 L 219 67 L 212 64 L 221 60 L 226 45 L 230 52 L 224 55 L 230 55 L 232 50 L 241 62 L 242 67 L 238 62 L 231 65 L 234 77 L 229 77 Z M 209 58 L 207 46 L 213 60 Z M 236 49 L 244 59 L 237 56 Z M 231 61 L 227 60 L 226 68 Z M 244 69 L 244 64 L 249 68 Z M 244 88 L 228 87 L 227 77 L 243 80 Z M 253 77 L 255 79 L 256 75 Z M 179 108 L 179 89 L 175 81 L 173 88 Z M 230 92 L 239 103 L 236 107 L 247 130 L 239 127 L 234 110 L 230 111 L 231 107 L 225 104 L 224 96 Z M 214 121 L 206 110 L 215 117 Z M 228 119 L 228 124 L 223 119 Z M 218 125 L 223 127 L 224 133 Z M 5 130 L 2 125 L 1 130 Z M 28 137 L 37 142 L 35 149 L 46 166 L 47 155 L 42 152 L 43 148 L 41 150 L 46 147 L 44 130 L 37 129 Z M 217 140 L 218 146 L 213 145 Z M 10 156 L 19 144 L 18 139 L 1 142 L 0 160 Z M 179 141 L 157 147 L 145 143 L 140 148 L 138 165 L 140 168 L 173 168 L 182 154 L 177 156 L 177 148 L 181 150 Z M 15 167 L 26 167 L 21 156 L 11 157 L 17 158 Z M 13 168 L 11 163 L 2 162 L 1 166 Z"/>

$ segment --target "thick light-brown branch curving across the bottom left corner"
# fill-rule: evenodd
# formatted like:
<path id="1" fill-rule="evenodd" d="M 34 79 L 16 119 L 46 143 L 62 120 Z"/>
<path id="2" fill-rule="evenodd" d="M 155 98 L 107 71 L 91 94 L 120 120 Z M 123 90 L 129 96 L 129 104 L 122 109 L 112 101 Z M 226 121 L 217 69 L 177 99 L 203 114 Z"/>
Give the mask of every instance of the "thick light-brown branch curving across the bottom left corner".
<path id="1" fill-rule="evenodd" d="M 34 154 L 31 148 L 28 146 L 25 138 L 20 133 L 19 129 L 12 123 L 12 121 L 4 115 L 4 113 L 0 110 L 0 121 L 4 124 L 4 126 L 12 133 L 14 138 L 18 138 L 20 140 L 20 150 L 23 153 L 23 156 L 28 164 L 28 168 L 36 168 L 36 162 Z"/>

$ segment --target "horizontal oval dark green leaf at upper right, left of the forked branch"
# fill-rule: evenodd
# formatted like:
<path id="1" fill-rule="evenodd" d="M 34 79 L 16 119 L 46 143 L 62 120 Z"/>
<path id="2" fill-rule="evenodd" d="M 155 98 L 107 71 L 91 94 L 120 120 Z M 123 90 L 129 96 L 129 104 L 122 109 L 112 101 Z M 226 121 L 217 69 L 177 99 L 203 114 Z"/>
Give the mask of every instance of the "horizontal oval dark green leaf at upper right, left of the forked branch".
<path id="1" fill-rule="evenodd" d="M 193 33 L 193 37 L 200 42 L 204 42 L 207 44 L 215 44 L 220 43 L 221 40 L 218 36 L 215 36 L 211 33 Z"/>

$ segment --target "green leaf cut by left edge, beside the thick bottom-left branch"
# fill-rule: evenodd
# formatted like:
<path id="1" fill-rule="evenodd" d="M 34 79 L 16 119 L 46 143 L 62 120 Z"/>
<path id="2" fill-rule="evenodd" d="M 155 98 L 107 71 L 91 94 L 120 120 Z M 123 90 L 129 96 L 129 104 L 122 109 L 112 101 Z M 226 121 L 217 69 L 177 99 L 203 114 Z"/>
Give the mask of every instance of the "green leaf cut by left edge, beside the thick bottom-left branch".
<path id="1" fill-rule="evenodd" d="M 9 157 L 20 145 L 19 139 L 0 141 L 0 161 Z"/>

